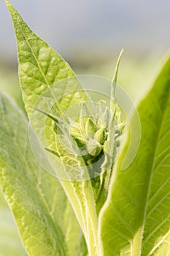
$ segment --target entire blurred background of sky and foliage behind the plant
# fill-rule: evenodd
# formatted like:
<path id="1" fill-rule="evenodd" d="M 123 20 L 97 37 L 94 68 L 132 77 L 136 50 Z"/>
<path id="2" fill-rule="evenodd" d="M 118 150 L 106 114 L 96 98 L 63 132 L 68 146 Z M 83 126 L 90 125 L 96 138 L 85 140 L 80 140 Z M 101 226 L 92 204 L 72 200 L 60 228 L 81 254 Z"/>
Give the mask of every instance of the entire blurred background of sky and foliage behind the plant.
<path id="1" fill-rule="evenodd" d="M 169 50 L 169 0 L 11 3 L 31 29 L 69 61 L 77 75 L 112 78 L 117 56 L 124 48 L 118 82 L 134 102 L 149 89 L 162 57 Z M 23 108 L 17 69 L 12 21 L 4 0 L 0 0 L 0 90 L 10 94 Z M 25 255 L 1 191 L 0 217 L 0 255 Z"/>

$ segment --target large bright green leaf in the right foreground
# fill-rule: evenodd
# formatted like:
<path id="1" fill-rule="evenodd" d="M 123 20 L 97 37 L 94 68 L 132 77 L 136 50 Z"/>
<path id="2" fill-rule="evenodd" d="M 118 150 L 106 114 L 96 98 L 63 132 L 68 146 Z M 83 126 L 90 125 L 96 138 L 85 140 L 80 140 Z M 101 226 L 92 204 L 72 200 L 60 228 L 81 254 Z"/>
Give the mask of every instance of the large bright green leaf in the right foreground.
<path id="1" fill-rule="evenodd" d="M 170 253 L 170 58 L 139 105 L 142 139 L 125 171 L 119 157 L 101 214 L 104 256 Z"/>

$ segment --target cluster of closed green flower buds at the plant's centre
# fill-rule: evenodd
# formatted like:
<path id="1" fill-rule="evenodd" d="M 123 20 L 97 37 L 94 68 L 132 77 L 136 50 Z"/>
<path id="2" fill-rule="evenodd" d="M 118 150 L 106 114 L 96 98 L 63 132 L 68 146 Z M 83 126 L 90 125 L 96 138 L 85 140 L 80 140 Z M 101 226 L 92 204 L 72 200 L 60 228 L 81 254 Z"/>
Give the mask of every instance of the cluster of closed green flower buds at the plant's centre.
<path id="1" fill-rule="evenodd" d="M 101 116 L 103 117 L 100 118 Z M 117 123 L 116 117 L 112 116 L 112 118 L 114 121 L 109 121 L 111 117 L 109 111 L 106 110 L 105 113 L 96 113 L 96 117 L 82 116 L 72 122 L 69 133 L 74 143 L 80 148 L 85 165 L 93 165 L 102 157 L 102 162 L 106 162 L 108 152 L 114 151 L 114 149 L 110 151 L 108 147 L 117 149 L 120 146 L 120 135 L 123 129 L 118 129 L 115 125 Z M 112 129 L 109 129 L 110 124 L 114 126 Z M 109 132 L 114 133 L 114 135 L 109 135 Z M 106 154 L 107 159 L 105 159 Z M 100 162 L 98 169 L 101 169 L 102 162 Z M 112 162 L 112 159 L 109 162 Z M 101 170 L 98 171 L 101 172 Z"/>

